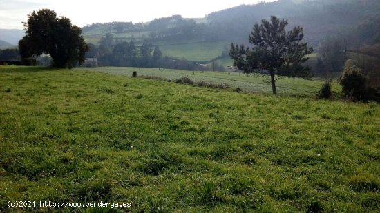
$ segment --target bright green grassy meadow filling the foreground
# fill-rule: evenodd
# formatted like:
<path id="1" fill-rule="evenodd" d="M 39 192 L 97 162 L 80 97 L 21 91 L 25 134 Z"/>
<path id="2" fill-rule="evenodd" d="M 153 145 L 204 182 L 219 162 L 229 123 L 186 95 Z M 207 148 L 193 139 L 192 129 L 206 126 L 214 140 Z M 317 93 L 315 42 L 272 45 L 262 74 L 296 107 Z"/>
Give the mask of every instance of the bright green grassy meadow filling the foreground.
<path id="1" fill-rule="evenodd" d="M 0 66 L 0 212 L 377 212 L 379 138 L 375 103 Z"/>

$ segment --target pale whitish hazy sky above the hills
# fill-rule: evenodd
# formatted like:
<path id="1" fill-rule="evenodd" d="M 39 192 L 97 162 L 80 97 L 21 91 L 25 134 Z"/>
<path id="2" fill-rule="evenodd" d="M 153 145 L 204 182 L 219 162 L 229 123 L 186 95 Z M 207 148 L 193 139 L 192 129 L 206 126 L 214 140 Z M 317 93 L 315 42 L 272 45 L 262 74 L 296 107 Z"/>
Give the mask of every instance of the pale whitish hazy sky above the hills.
<path id="1" fill-rule="evenodd" d="M 111 21 L 151 21 L 181 14 L 185 18 L 205 17 L 213 11 L 275 0 L 0 0 L 0 29 L 23 29 L 22 21 L 33 10 L 49 8 L 65 16 L 77 26 Z"/>

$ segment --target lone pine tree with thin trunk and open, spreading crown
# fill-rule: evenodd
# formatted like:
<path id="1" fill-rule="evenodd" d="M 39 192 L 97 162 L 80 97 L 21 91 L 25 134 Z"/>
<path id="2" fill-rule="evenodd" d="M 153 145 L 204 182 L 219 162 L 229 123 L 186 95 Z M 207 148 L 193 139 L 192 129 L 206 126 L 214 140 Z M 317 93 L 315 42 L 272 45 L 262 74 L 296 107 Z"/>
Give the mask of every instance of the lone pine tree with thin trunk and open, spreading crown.
<path id="1" fill-rule="evenodd" d="M 249 36 L 253 46 L 231 43 L 229 55 L 234 65 L 244 72 L 269 72 L 273 94 L 276 94 L 275 74 L 292 77 L 310 77 L 310 69 L 303 67 L 305 55 L 313 52 L 307 43 L 301 43 L 303 28 L 295 27 L 285 32 L 287 20 L 272 16 L 270 21 L 263 19 L 260 26 L 255 23 Z"/>

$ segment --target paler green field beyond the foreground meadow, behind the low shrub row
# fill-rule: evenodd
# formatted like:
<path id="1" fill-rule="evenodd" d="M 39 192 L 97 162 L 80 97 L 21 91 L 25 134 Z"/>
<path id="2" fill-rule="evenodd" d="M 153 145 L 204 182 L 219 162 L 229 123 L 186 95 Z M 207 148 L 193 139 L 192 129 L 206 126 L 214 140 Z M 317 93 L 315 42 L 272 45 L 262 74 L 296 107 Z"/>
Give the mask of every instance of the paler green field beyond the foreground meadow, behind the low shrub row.
<path id="1" fill-rule="evenodd" d="M 89 70 L 93 72 L 106 72 L 108 74 L 124 75 L 130 77 L 133 71 L 138 75 L 151 75 L 162 77 L 164 79 L 179 79 L 188 76 L 194 81 L 207 81 L 210 83 L 228 83 L 231 88 L 240 88 L 246 92 L 271 93 L 272 86 L 269 83 L 269 77 L 261 74 L 247 75 L 236 72 L 192 72 L 186 70 L 169 70 L 156 68 L 75 68 L 77 70 Z M 278 94 L 300 94 L 314 96 L 321 89 L 323 81 L 305 80 L 299 78 L 281 77 L 276 81 Z M 338 83 L 333 82 L 333 91 L 340 92 L 341 87 Z"/>

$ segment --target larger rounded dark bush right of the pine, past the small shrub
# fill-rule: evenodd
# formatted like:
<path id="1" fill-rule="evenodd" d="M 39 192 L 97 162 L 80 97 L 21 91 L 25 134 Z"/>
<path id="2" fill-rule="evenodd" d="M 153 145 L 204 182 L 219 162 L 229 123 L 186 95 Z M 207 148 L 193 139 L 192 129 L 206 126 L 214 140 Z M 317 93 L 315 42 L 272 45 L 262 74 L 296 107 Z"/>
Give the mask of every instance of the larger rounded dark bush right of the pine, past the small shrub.
<path id="1" fill-rule="evenodd" d="M 367 77 L 356 66 L 348 66 L 343 71 L 339 83 L 345 97 L 354 100 L 363 100 L 366 92 Z"/>

